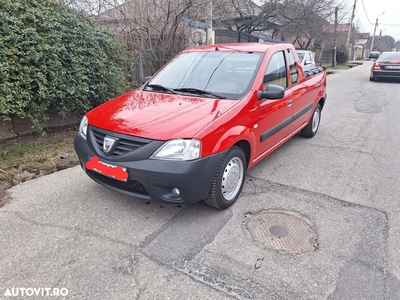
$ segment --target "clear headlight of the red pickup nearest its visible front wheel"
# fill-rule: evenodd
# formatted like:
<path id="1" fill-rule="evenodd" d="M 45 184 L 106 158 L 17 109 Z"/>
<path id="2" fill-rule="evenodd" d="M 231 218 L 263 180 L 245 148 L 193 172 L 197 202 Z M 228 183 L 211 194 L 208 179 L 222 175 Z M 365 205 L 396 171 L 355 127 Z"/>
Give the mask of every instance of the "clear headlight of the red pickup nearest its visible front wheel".
<path id="1" fill-rule="evenodd" d="M 200 158 L 201 142 L 191 139 L 170 140 L 162 145 L 150 158 L 166 160 L 193 160 Z"/>

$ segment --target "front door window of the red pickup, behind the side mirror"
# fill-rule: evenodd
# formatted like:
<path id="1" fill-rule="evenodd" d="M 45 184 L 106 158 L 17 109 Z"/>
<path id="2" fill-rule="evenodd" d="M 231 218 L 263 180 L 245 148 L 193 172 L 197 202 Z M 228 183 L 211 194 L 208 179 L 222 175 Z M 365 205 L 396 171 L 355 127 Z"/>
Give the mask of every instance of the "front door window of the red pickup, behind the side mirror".
<path id="1" fill-rule="evenodd" d="M 285 53 L 283 51 L 276 52 L 269 61 L 264 75 L 263 89 L 266 90 L 269 84 L 280 85 L 284 88 L 288 86 Z"/>

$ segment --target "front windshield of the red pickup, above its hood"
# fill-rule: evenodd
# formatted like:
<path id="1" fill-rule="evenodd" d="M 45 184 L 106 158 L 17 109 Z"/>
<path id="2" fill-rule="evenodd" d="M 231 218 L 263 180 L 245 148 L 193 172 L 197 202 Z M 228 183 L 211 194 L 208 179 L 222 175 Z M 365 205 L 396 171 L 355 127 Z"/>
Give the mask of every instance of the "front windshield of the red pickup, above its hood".
<path id="1" fill-rule="evenodd" d="M 250 89 L 263 53 L 185 52 L 175 57 L 151 81 L 152 87 L 194 96 L 241 99 Z M 154 89 L 155 90 L 155 89 Z"/>

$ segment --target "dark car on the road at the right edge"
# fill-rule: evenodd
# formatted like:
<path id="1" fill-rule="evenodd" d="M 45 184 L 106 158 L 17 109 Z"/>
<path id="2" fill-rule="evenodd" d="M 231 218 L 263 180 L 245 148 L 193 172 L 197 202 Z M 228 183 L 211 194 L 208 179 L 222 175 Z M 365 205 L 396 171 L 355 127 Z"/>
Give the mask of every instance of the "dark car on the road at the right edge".
<path id="1" fill-rule="evenodd" d="M 400 79 L 400 52 L 382 52 L 372 65 L 369 80 L 396 78 Z"/>

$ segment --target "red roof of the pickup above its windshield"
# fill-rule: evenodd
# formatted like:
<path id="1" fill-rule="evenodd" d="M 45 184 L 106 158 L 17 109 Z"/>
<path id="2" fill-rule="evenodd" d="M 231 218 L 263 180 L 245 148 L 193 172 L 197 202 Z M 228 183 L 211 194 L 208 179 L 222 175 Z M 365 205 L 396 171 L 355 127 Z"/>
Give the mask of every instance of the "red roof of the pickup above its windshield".
<path id="1" fill-rule="evenodd" d="M 191 51 L 241 51 L 241 52 L 266 52 L 271 47 L 276 45 L 285 45 L 284 43 L 229 43 L 229 44 L 215 44 L 205 45 L 195 48 L 186 49 L 183 52 Z"/>

